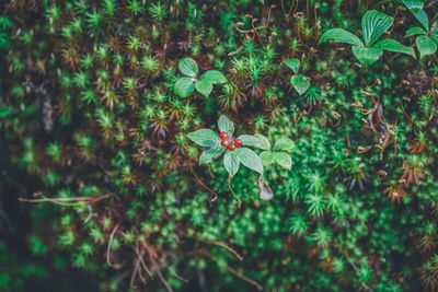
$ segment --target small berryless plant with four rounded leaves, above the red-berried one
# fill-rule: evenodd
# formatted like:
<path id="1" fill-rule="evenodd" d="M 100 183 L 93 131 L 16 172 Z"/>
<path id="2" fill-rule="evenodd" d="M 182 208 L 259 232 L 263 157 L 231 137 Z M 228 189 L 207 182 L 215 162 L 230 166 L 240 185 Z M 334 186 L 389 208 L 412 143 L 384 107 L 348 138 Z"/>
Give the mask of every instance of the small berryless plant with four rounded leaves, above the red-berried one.
<path id="1" fill-rule="evenodd" d="M 187 97 L 193 92 L 198 91 L 204 96 L 208 97 L 214 84 L 227 82 L 227 78 L 218 70 L 208 70 L 200 77 L 198 65 L 192 58 L 183 58 L 178 62 L 180 72 L 186 77 L 180 78 L 175 83 L 175 92 L 181 97 Z"/>

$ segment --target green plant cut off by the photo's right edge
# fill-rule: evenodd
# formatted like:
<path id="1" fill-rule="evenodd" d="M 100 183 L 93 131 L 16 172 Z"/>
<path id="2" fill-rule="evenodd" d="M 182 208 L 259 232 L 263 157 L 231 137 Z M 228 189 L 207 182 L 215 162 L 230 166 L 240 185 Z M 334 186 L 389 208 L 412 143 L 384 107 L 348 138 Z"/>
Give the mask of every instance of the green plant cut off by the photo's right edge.
<path id="1" fill-rule="evenodd" d="M 406 31 L 405 37 L 419 35 L 415 39 L 416 47 L 419 51 L 419 57 L 434 55 L 437 51 L 438 45 L 438 21 L 434 22 L 438 14 L 435 14 L 435 19 L 431 20 L 429 26 L 429 19 L 426 11 L 424 11 L 423 0 L 403 0 L 403 3 L 414 14 L 417 21 L 423 27 L 414 26 Z"/>

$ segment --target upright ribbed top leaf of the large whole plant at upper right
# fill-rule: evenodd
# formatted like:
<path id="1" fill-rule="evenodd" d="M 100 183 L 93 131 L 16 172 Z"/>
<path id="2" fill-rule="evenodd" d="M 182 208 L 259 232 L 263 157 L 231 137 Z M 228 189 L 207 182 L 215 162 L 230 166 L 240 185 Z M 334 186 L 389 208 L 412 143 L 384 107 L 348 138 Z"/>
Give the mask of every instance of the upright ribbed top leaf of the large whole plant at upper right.
<path id="1" fill-rule="evenodd" d="M 390 26 L 394 19 L 377 10 L 369 10 L 362 16 L 365 45 L 372 45 Z"/>

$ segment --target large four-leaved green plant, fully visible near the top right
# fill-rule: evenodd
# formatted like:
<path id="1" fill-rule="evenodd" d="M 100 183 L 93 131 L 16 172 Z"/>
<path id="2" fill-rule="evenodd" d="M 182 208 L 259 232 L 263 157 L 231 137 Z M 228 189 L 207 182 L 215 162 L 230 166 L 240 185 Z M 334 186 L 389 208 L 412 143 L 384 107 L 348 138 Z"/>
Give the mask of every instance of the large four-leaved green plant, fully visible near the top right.
<path id="1" fill-rule="evenodd" d="M 343 28 L 332 28 L 325 32 L 320 44 L 333 39 L 336 43 L 346 43 L 353 45 L 353 54 L 361 62 L 371 65 L 380 59 L 383 50 L 403 52 L 415 58 L 415 52 L 412 47 L 404 46 L 400 42 L 387 38 L 379 40 L 379 37 L 388 31 L 394 19 L 381 13 L 377 10 L 367 11 L 362 16 L 362 37 L 364 42 L 356 35 Z"/>

